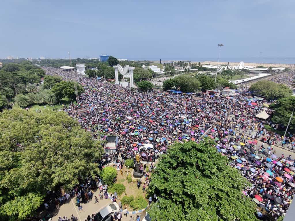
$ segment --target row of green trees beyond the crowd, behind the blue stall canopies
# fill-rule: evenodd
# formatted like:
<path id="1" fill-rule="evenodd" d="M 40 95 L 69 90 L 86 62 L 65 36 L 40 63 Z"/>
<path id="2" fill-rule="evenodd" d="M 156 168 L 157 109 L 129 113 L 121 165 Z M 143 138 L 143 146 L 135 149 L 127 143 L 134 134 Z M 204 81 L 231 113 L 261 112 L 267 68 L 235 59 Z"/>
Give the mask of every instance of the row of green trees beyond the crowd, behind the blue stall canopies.
<path id="1" fill-rule="evenodd" d="M 233 83 L 230 83 L 228 80 L 218 77 L 216 79 L 216 84 L 214 83 L 215 79 L 211 75 L 196 75 L 188 76 L 188 75 L 181 75 L 177 76 L 168 80 L 165 80 L 163 83 L 163 90 L 181 90 L 182 92 L 196 92 L 198 90 L 212 90 L 217 86 L 222 88 L 229 87 L 229 88 L 236 88 Z"/>

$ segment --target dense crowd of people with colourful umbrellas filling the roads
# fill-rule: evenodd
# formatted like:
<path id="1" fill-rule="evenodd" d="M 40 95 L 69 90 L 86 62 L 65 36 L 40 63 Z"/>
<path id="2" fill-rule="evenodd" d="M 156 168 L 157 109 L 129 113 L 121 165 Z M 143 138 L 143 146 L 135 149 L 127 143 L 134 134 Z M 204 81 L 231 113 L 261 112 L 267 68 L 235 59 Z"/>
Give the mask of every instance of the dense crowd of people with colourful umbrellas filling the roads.
<path id="1" fill-rule="evenodd" d="M 71 72 L 44 69 L 48 75 L 73 79 Z M 143 161 L 155 161 L 174 141 L 199 142 L 209 136 L 216 141 L 217 150 L 251 182 L 252 187 L 244 194 L 275 217 L 286 213 L 295 193 L 294 159 L 276 156 L 274 146 L 283 138 L 266 131 L 265 123 L 255 118 L 262 110 L 270 111 L 263 105 L 263 98 L 253 97 L 246 89 L 227 97 L 157 90 L 142 93 L 81 75 L 75 77 L 85 93 L 80 95 L 78 105 L 65 111 L 96 139 L 104 140 L 104 134 L 119 136 L 117 154 L 105 154 L 102 164 L 117 158 L 134 159 L 138 153 Z M 272 80 L 286 83 L 282 79 Z M 77 111 L 82 108 L 87 110 Z M 260 140 L 264 143 L 258 146 Z M 285 142 L 294 148 L 294 135 L 289 134 Z M 145 148 L 146 144 L 153 147 Z"/>

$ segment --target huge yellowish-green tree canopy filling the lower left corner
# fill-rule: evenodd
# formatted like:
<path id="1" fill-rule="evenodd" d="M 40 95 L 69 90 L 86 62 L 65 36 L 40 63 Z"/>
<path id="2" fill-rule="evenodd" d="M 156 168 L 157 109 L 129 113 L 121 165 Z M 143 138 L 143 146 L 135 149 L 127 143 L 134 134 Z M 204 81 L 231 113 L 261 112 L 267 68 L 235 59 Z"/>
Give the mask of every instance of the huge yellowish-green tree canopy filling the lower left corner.
<path id="1" fill-rule="evenodd" d="M 4 110 L 0 134 L 0 220 L 24 220 L 48 190 L 68 190 L 99 173 L 99 141 L 64 112 Z"/>

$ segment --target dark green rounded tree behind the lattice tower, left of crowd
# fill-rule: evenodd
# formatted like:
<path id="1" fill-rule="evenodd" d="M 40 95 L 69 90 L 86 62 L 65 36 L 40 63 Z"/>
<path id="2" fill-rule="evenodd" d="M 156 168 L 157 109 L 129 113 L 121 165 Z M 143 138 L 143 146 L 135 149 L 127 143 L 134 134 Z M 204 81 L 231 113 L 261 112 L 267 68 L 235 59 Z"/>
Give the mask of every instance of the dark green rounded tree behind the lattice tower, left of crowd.
<path id="1" fill-rule="evenodd" d="M 77 83 L 77 89 L 78 89 L 79 95 L 84 92 L 83 87 L 79 85 L 78 83 Z M 68 98 L 73 97 L 74 99 L 76 99 L 73 81 L 61 81 L 59 83 L 56 83 L 51 90 L 53 93 L 55 93 L 58 99 L 61 99 L 63 97 L 68 97 Z"/>

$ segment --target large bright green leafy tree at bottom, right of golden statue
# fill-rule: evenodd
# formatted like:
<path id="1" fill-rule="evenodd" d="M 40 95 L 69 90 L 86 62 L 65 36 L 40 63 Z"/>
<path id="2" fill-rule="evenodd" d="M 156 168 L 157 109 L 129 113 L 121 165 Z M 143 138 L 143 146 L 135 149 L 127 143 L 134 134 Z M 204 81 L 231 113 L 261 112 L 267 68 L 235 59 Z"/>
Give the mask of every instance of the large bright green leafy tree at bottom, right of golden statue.
<path id="1" fill-rule="evenodd" d="M 250 183 L 228 163 L 212 140 L 171 146 L 149 185 L 159 199 L 148 210 L 152 220 L 257 220 L 255 203 L 242 194 Z"/>

